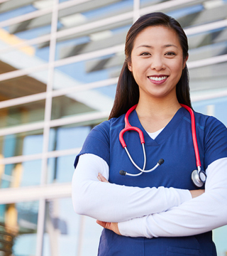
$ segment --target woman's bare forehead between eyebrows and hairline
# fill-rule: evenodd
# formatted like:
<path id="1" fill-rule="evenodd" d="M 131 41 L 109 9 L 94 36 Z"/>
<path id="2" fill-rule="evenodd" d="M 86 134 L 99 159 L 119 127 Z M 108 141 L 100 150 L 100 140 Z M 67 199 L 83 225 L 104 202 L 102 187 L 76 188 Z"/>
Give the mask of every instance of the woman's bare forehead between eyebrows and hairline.
<path id="1" fill-rule="evenodd" d="M 140 45 L 162 46 L 174 44 L 181 48 L 177 33 L 166 26 L 149 26 L 135 37 L 133 48 Z"/>

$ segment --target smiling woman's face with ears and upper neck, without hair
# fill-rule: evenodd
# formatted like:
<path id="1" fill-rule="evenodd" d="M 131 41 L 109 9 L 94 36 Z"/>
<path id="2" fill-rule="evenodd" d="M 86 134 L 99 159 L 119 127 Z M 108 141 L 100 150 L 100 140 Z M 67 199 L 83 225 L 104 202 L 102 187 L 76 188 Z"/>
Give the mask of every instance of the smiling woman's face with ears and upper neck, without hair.
<path id="1" fill-rule="evenodd" d="M 135 38 L 128 69 L 141 98 L 176 98 L 176 85 L 186 60 L 177 33 L 165 26 L 150 26 Z"/>

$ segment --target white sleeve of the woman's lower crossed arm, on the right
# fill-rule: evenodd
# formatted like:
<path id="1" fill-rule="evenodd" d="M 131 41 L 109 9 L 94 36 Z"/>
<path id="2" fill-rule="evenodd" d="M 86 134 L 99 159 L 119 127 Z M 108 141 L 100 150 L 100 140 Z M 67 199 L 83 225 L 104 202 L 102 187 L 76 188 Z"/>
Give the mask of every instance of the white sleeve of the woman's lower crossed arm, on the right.
<path id="1" fill-rule="evenodd" d="M 177 237 L 205 233 L 227 224 L 227 159 L 206 170 L 206 192 L 165 213 L 118 223 L 122 235 L 131 237 Z"/>

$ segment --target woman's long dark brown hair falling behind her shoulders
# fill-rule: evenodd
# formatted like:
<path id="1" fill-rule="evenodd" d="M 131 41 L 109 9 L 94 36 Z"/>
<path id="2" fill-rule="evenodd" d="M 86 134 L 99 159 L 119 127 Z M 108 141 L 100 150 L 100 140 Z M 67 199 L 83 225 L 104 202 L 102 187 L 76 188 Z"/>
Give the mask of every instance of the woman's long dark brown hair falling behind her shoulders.
<path id="1" fill-rule="evenodd" d="M 130 107 L 138 103 L 140 95 L 139 88 L 131 71 L 128 70 L 128 62 L 131 61 L 131 53 L 136 36 L 148 26 L 166 26 L 168 28 L 172 28 L 179 37 L 179 43 L 182 46 L 184 60 L 188 56 L 187 36 L 174 18 L 160 12 L 145 14 L 138 18 L 138 20 L 129 29 L 126 36 L 126 60 L 123 63 L 121 74 L 118 78 L 114 106 L 111 110 L 111 114 L 109 115 L 109 119 L 112 117 L 120 117 L 121 114 L 125 114 Z M 189 73 L 187 65 L 185 65 L 185 68 L 182 70 L 182 76 L 177 83 L 176 92 L 178 102 L 192 108 L 189 94 Z"/>

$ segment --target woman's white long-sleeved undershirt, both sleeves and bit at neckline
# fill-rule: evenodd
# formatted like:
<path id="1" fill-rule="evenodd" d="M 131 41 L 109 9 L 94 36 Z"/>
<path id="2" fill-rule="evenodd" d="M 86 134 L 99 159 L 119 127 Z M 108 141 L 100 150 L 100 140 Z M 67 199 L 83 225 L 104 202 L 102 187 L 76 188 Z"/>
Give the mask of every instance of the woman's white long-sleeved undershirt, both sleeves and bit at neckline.
<path id="1" fill-rule="evenodd" d="M 152 133 L 152 138 L 160 132 Z M 227 158 L 211 163 L 206 169 L 205 193 L 192 199 L 184 189 L 101 182 L 99 173 L 109 179 L 108 164 L 99 156 L 83 154 L 72 178 L 74 210 L 97 220 L 117 222 L 120 233 L 131 237 L 204 233 L 227 224 L 226 166 Z"/>

